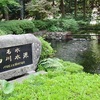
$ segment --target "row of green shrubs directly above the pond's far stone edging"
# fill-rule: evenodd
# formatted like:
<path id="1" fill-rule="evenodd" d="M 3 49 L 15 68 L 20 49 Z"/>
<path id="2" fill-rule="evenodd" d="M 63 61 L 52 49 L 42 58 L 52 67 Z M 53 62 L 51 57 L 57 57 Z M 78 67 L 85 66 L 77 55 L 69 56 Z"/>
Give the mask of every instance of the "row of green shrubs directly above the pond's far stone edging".
<path id="1" fill-rule="evenodd" d="M 39 30 L 47 30 L 50 32 L 78 31 L 78 23 L 72 19 L 47 19 L 34 20 L 33 23 Z"/>

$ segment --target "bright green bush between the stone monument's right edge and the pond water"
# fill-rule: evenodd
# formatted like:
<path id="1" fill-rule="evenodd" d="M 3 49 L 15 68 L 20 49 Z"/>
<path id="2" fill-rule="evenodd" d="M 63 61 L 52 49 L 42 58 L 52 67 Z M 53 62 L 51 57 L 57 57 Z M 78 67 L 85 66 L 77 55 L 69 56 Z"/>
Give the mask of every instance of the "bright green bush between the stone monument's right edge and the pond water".
<path id="1" fill-rule="evenodd" d="M 47 41 L 45 41 L 42 37 L 39 37 L 39 40 L 42 43 L 42 52 L 41 52 L 41 59 L 50 57 L 54 55 L 54 50 L 53 48 L 50 46 L 50 43 L 48 43 Z"/>

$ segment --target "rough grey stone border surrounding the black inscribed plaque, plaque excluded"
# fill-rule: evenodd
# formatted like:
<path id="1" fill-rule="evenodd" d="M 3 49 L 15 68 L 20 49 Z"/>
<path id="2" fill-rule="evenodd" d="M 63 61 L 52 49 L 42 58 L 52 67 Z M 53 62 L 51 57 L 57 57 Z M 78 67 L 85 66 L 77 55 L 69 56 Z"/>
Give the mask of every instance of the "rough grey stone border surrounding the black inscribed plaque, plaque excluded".
<path id="1" fill-rule="evenodd" d="M 31 44 L 32 47 L 32 64 L 0 72 L 0 79 L 9 79 L 29 71 L 35 71 L 41 53 L 41 43 L 32 34 L 0 36 L 0 50 L 26 44 Z M 3 66 L 1 65 L 0 67 Z"/>

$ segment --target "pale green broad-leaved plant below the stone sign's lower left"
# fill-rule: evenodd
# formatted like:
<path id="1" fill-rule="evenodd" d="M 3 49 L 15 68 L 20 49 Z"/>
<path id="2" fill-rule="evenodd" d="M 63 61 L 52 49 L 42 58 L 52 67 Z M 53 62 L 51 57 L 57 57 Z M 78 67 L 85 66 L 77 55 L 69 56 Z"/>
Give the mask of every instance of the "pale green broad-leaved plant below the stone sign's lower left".
<path id="1" fill-rule="evenodd" d="M 14 85 L 7 82 L 6 80 L 0 80 L 0 88 L 4 94 L 9 94 L 13 92 Z"/>

